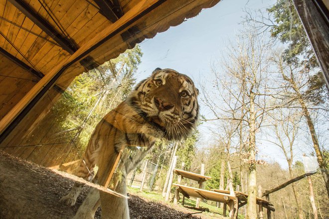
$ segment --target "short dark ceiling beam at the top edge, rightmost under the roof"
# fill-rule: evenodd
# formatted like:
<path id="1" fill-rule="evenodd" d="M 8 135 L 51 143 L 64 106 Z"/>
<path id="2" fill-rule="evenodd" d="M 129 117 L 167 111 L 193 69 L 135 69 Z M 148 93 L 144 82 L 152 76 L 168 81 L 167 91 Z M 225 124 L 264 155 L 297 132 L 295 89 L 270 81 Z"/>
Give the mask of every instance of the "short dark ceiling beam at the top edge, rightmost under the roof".
<path id="1" fill-rule="evenodd" d="M 99 6 L 99 12 L 112 23 L 116 22 L 123 16 L 123 11 L 118 0 L 94 0 Z"/>

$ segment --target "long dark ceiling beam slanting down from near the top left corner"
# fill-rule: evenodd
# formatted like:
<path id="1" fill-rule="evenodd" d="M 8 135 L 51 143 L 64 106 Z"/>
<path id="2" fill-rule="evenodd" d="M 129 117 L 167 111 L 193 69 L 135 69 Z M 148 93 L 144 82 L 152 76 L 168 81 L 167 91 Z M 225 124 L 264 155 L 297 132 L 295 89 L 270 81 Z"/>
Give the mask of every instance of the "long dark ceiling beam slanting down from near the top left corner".
<path id="1" fill-rule="evenodd" d="M 70 54 L 73 54 L 77 47 L 66 36 L 62 36 L 52 27 L 43 17 L 36 13 L 28 4 L 23 0 L 8 0 L 12 3 L 18 10 L 20 10 L 25 16 L 33 21 L 38 27 L 40 27 L 45 33 L 47 33 L 51 38 L 53 38 L 63 49 L 65 49 Z"/>

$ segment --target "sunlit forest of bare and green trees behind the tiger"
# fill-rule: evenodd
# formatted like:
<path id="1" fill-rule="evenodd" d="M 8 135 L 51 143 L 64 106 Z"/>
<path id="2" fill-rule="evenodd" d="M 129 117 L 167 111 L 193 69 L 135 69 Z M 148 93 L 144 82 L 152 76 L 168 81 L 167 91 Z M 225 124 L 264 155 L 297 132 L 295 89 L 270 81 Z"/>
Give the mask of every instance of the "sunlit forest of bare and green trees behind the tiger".
<path id="1" fill-rule="evenodd" d="M 304 28 L 291 0 L 278 0 L 266 12 L 246 9 L 243 24 L 227 45 L 229 56 L 209 65 L 212 78 L 198 88 L 199 105 L 208 113 L 200 115 L 187 139 L 158 141 L 128 185 L 140 186 L 137 176 L 149 164 L 144 189 L 165 196 L 177 156 L 176 168 L 184 163 L 184 170 L 200 173 L 204 165 L 211 179 L 203 188 L 247 193 L 248 205 L 239 214 L 257 218 L 252 200 L 307 173 L 311 160 L 318 165 L 316 172 L 272 193 L 270 201 L 277 219 L 328 219 L 329 91 Z M 77 77 L 27 139 L 51 123 L 43 143 L 70 145 L 71 151 L 59 158 L 63 163 L 80 159 L 96 124 L 138 83 L 142 56 L 136 45 Z M 205 135 L 211 140 L 204 141 Z M 264 157 L 263 150 L 279 153 Z M 198 186 L 188 180 L 183 184 Z"/>

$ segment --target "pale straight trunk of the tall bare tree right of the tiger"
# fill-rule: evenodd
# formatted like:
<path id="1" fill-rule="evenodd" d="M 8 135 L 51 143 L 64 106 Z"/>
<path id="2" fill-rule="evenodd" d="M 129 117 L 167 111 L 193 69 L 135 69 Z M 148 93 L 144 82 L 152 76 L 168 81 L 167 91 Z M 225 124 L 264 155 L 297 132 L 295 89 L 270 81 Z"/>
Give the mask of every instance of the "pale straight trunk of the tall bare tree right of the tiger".
<path id="1" fill-rule="evenodd" d="M 249 118 L 249 190 L 247 204 L 247 219 L 257 219 L 257 181 L 256 181 L 256 113 L 255 94 L 250 92 L 250 118 Z"/>

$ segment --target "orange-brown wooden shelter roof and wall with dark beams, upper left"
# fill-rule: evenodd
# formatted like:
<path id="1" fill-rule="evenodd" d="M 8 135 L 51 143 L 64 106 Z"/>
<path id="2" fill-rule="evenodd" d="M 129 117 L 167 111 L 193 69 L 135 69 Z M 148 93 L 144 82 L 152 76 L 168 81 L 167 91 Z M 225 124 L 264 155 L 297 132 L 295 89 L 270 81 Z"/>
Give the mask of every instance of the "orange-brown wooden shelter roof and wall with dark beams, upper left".
<path id="1" fill-rule="evenodd" d="M 72 80 L 219 1 L 0 0 L 0 149 L 46 167 L 74 161 L 61 157 L 70 145 L 41 145 L 51 127 L 37 130 Z"/>

